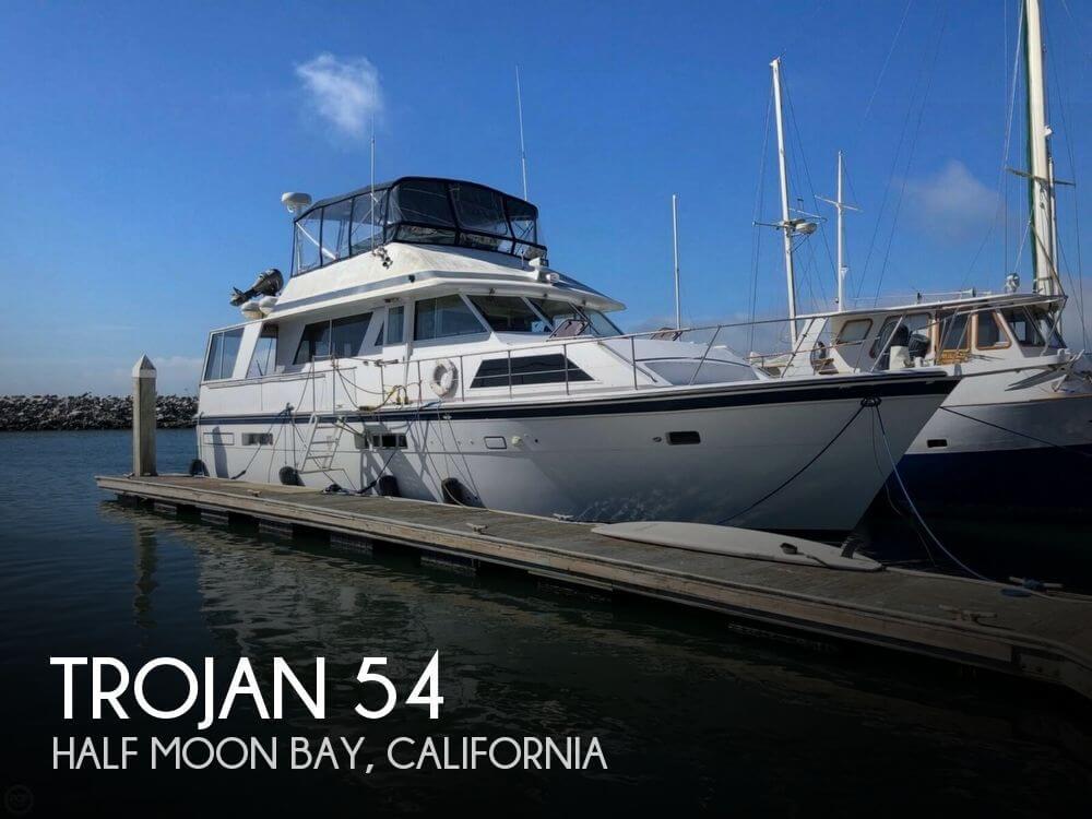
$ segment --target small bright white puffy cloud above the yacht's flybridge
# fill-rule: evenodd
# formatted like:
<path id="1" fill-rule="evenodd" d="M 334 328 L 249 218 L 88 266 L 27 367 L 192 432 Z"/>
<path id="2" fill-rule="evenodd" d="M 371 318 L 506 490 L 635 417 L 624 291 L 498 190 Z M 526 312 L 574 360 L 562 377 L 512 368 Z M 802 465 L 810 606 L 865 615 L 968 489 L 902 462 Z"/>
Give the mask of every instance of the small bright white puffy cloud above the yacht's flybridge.
<path id="1" fill-rule="evenodd" d="M 314 109 L 346 136 L 363 136 L 383 109 L 379 71 L 365 57 L 320 54 L 296 66 L 296 76 Z"/>

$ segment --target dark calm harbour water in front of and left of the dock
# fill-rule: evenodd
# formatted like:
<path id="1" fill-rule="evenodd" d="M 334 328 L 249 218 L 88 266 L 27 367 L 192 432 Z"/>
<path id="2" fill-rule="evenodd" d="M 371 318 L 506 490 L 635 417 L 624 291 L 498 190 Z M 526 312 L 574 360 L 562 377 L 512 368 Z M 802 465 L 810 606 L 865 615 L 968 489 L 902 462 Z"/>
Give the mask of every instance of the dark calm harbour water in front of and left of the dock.
<path id="1" fill-rule="evenodd" d="M 162 471 L 183 470 L 192 432 L 159 435 Z M 717 815 L 1058 815 L 1092 794 L 1090 707 L 1068 692 L 845 646 L 748 633 L 726 618 L 465 577 L 412 555 L 348 557 L 133 510 L 96 473 L 129 467 L 127 432 L 0 435 L 4 658 L 3 786 L 33 816 L 76 808 L 156 815 L 238 805 L 517 814 L 701 809 Z M 17 476 L 17 479 L 15 479 Z M 360 656 L 388 656 L 404 697 L 441 654 L 442 716 L 400 704 L 352 712 Z M 61 720 L 50 655 L 112 655 L 135 667 L 177 656 L 328 658 L 322 724 L 263 723 L 239 710 L 213 736 L 597 736 L 609 771 L 48 771 L 51 736 L 190 736 L 188 719 Z M 169 692 L 167 692 L 169 695 Z M 164 702 L 169 697 L 165 696 Z M 83 709 L 86 711 L 86 709 Z M 214 811 L 216 812 L 216 811 Z"/>

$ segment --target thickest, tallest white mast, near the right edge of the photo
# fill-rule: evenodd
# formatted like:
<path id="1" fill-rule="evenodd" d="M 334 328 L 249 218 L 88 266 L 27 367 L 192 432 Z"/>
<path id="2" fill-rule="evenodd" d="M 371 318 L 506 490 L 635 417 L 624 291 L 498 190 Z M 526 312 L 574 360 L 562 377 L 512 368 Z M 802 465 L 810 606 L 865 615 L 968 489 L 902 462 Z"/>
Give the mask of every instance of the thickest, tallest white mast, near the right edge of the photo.
<path id="1" fill-rule="evenodd" d="M 1035 292 L 1059 292 L 1054 261 L 1054 185 L 1051 129 L 1046 124 L 1046 84 L 1043 28 L 1038 0 L 1024 0 L 1024 71 L 1028 88 L 1028 207 L 1034 236 L 1032 270 Z"/>

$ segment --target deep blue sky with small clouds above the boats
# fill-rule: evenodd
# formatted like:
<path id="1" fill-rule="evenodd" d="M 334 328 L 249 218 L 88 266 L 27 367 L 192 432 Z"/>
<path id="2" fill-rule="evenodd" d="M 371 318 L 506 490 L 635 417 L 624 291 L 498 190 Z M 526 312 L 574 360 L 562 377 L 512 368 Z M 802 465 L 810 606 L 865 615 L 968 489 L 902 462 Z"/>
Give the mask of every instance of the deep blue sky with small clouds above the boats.
<path id="1" fill-rule="evenodd" d="M 1044 3 L 1058 174 L 1080 181 L 1092 140 L 1070 134 L 1092 130 L 1092 3 Z M 205 333 L 238 314 L 229 288 L 288 266 L 281 192 L 367 183 L 372 111 L 380 178 L 519 193 L 517 63 L 550 261 L 627 302 L 624 327 L 673 312 L 673 192 L 685 314 L 748 314 L 756 276 L 757 312 L 784 313 L 778 235 L 752 226 L 757 190 L 760 218 L 778 218 L 772 133 L 761 159 L 779 54 L 805 210 L 833 193 L 846 152 L 863 209 L 851 292 L 997 289 L 1025 206 L 1016 178 L 999 187 L 1018 8 L 5 3 L 0 392 L 123 392 L 144 352 L 162 391 L 192 391 Z M 1018 105 L 1011 165 L 1022 119 Z M 1092 214 L 1092 202 L 1083 188 L 1061 199 L 1076 270 L 1073 205 Z M 833 290 L 828 245 L 811 242 L 798 256 L 806 306 Z"/>

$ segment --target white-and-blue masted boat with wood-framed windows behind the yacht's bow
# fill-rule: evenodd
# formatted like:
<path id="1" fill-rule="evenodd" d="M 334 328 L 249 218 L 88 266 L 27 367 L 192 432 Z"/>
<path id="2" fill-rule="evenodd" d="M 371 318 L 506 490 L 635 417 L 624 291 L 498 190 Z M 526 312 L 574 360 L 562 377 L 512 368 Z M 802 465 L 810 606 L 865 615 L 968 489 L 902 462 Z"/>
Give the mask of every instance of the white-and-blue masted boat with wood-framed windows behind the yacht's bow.
<path id="1" fill-rule="evenodd" d="M 1057 182 L 1046 124 L 1038 0 L 1024 2 L 1024 31 L 1030 168 L 1019 175 L 1029 189 L 1032 293 L 1018 293 L 1018 280 L 1009 276 L 1000 294 L 972 290 L 918 296 L 893 307 L 847 309 L 843 203 L 835 204 L 838 312 L 797 317 L 788 251 L 795 223 L 784 215 L 790 313 L 800 320 L 803 331 L 794 334 L 791 355 L 759 358 L 758 364 L 780 376 L 958 365 L 968 378 L 899 465 L 915 501 L 934 509 L 982 503 L 995 509 L 1068 508 L 1087 514 L 1092 490 L 1092 368 L 1083 353 L 1066 346 L 1059 331 L 1066 295 L 1057 268 Z M 779 112 L 780 91 L 775 69 Z M 840 155 L 840 203 L 841 186 Z M 787 214 L 784 181 L 782 201 L 782 213 Z"/>

